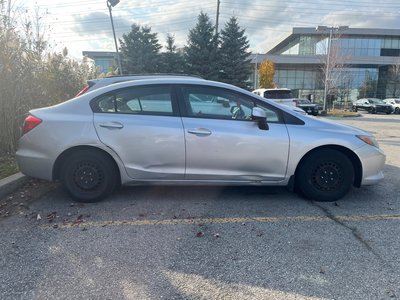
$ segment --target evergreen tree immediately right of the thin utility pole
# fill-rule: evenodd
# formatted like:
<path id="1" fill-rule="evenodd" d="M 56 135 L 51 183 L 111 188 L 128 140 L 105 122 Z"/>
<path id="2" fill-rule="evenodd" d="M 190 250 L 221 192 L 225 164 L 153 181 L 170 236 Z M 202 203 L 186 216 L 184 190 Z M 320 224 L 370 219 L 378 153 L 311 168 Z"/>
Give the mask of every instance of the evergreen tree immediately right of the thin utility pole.
<path id="1" fill-rule="evenodd" d="M 249 41 L 245 30 L 231 17 L 220 33 L 220 80 L 241 88 L 247 87 L 251 72 Z"/>

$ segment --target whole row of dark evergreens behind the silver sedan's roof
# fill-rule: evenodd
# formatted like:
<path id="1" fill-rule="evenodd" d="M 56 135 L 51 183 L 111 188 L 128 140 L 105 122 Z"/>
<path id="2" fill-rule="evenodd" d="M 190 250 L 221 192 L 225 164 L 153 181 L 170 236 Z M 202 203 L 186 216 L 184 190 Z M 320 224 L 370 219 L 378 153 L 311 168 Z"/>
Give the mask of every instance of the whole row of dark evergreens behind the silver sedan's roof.
<path id="1" fill-rule="evenodd" d="M 216 33 L 208 15 L 201 12 L 196 26 L 189 31 L 187 45 L 180 51 L 174 36 L 168 34 L 166 51 L 160 52 L 157 33 L 139 24 L 131 26 L 120 45 L 124 74 L 185 73 L 249 88 L 249 41 L 236 17 Z"/>

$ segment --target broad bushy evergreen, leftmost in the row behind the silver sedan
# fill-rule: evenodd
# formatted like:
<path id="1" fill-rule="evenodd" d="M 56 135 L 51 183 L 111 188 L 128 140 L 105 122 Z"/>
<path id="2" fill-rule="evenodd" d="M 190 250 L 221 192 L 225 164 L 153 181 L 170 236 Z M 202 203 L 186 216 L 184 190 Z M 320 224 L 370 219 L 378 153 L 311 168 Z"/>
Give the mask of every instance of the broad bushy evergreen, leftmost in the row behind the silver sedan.
<path id="1" fill-rule="evenodd" d="M 124 73 L 157 73 L 161 67 L 161 45 L 151 28 L 133 24 L 128 34 L 120 39 Z"/>

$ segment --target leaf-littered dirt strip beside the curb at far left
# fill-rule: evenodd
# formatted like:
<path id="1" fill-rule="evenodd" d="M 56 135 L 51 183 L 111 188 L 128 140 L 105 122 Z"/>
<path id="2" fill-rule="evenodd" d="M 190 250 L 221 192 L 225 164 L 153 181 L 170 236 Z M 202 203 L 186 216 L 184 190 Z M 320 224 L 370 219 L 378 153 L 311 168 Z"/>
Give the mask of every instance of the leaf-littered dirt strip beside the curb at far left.
<path id="1" fill-rule="evenodd" d="M 29 213 L 29 205 L 59 186 L 59 183 L 30 179 L 23 187 L 0 199 L 0 219 Z"/>

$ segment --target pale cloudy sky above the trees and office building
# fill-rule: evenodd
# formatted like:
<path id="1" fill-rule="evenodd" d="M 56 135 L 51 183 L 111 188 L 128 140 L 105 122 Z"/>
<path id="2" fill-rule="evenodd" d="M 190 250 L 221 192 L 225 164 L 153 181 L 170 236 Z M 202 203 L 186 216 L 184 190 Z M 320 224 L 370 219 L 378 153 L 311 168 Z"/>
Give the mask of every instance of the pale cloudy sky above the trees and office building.
<path id="1" fill-rule="evenodd" d="M 7 2 L 7 1 L 6 1 Z M 250 50 L 265 53 L 290 35 L 293 27 L 343 25 L 352 28 L 400 29 L 400 0 L 221 0 L 220 25 L 231 16 L 246 30 Z M 70 56 L 82 51 L 114 51 L 106 0 L 11 0 L 14 19 L 41 16 L 45 36 L 56 49 L 67 47 Z M 117 36 L 132 23 L 148 25 L 165 45 L 166 35 L 176 45 L 186 44 L 188 32 L 203 11 L 215 23 L 217 0 L 120 0 L 113 8 Z"/>

